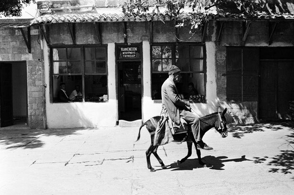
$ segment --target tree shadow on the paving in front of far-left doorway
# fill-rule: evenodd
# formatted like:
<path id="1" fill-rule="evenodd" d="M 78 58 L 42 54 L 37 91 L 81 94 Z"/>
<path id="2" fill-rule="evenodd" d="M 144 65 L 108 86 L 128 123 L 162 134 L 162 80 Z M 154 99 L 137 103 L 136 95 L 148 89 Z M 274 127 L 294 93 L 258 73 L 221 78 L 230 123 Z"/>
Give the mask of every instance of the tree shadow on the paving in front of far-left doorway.
<path id="1" fill-rule="evenodd" d="M 83 128 L 71 129 L 28 129 L 28 130 L 1 130 L 0 147 L 5 149 L 27 148 L 33 149 L 44 146 L 42 136 L 58 136 L 61 139 L 68 135 L 78 135 L 77 131 Z"/>

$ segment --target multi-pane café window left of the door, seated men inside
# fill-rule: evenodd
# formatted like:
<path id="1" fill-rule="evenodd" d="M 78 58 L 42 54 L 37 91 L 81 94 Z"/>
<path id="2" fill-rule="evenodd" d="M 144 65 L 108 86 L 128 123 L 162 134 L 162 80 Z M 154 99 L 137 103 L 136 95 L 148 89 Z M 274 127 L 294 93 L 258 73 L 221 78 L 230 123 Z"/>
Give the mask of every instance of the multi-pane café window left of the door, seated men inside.
<path id="1" fill-rule="evenodd" d="M 105 46 L 52 48 L 53 102 L 107 101 L 106 50 Z M 61 84 L 65 85 L 63 91 Z"/>

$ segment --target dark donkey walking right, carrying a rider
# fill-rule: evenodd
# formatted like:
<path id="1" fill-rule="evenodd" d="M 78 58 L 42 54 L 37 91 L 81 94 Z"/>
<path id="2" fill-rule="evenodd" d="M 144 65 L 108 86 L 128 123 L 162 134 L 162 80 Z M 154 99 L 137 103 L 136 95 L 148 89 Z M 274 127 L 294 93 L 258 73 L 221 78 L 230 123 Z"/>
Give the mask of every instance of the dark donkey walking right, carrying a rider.
<path id="1" fill-rule="evenodd" d="M 227 109 L 225 108 L 222 113 L 221 112 L 216 112 L 216 113 L 209 114 L 209 115 L 206 115 L 204 117 L 199 118 L 200 138 L 201 138 L 201 140 L 202 140 L 202 137 L 204 136 L 204 134 L 209 129 L 211 129 L 213 127 L 216 129 L 216 131 L 218 131 L 221 134 L 222 138 L 227 137 L 228 132 L 227 132 L 227 127 L 226 127 L 226 119 L 224 117 L 224 114 L 226 113 L 226 111 L 227 111 Z M 165 164 L 163 163 L 163 161 L 161 160 L 161 158 L 157 154 L 158 146 L 153 146 L 155 129 L 156 129 L 157 123 L 159 122 L 160 118 L 161 118 L 160 116 L 156 116 L 156 117 L 153 117 L 153 118 L 149 119 L 147 122 L 144 122 L 140 126 L 139 134 L 138 134 L 138 138 L 137 138 L 137 141 L 138 141 L 140 139 L 141 128 L 146 125 L 146 128 L 147 128 L 147 130 L 148 130 L 148 132 L 150 134 L 150 137 L 151 137 L 151 144 L 150 144 L 149 148 L 146 151 L 147 168 L 151 172 L 155 171 L 154 168 L 151 167 L 151 163 L 150 163 L 150 155 L 151 155 L 151 153 L 156 157 L 156 159 L 160 163 L 161 167 L 163 169 L 165 169 Z M 181 139 L 182 142 L 186 141 L 187 146 L 188 146 L 188 154 L 187 154 L 187 156 L 184 157 L 183 159 L 181 159 L 180 161 L 178 160 L 177 165 L 180 165 L 181 163 L 185 162 L 192 155 L 192 145 L 194 143 L 194 145 L 196 147 L 196 153 L 197 153 L 197 157 L 198 157 L 198 162 L 203 167 L 206 167 L 205 163 L 203 163 L 202 160 L 201 160 L 200 149 L 197 147 L 197 142 L 196 142 L 190 128 L 189 128 L 189 131 L 187 133 L 185 132 L 185 133 L 180 133 L 180 134 L 174 134 L 173 138 L 174 138 L 174 140 Z"/>

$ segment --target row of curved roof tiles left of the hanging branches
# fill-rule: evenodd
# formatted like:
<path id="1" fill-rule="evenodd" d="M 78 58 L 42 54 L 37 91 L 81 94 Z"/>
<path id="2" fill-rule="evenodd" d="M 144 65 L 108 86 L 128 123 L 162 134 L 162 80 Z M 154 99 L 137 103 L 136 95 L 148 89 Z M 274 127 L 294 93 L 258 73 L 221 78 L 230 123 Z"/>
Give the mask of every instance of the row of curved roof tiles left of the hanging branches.
<path id="1" fill-rule="evenodd" d="M 51 24 L 51 23 L 93 23 L 93 22 L 145 22 L 145 21 L 171 21 L 174 17 L 158 14 L 147 14 L 126 16 L 123 14 L 62 14 L 43 15 L 31 21 L 31 24 Z"/>

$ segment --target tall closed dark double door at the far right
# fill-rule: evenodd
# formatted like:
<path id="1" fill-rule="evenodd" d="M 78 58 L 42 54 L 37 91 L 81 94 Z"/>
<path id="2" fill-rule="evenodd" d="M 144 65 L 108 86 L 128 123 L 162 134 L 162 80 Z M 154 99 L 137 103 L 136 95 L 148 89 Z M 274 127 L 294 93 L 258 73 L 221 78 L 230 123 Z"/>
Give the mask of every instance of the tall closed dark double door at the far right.
<path id="1" fill-rule="evenodd" d="M 294 100 L 294 48 L 260 51 L 259 118 L 267 121 L 291 119 L 289 101 Z"/>

